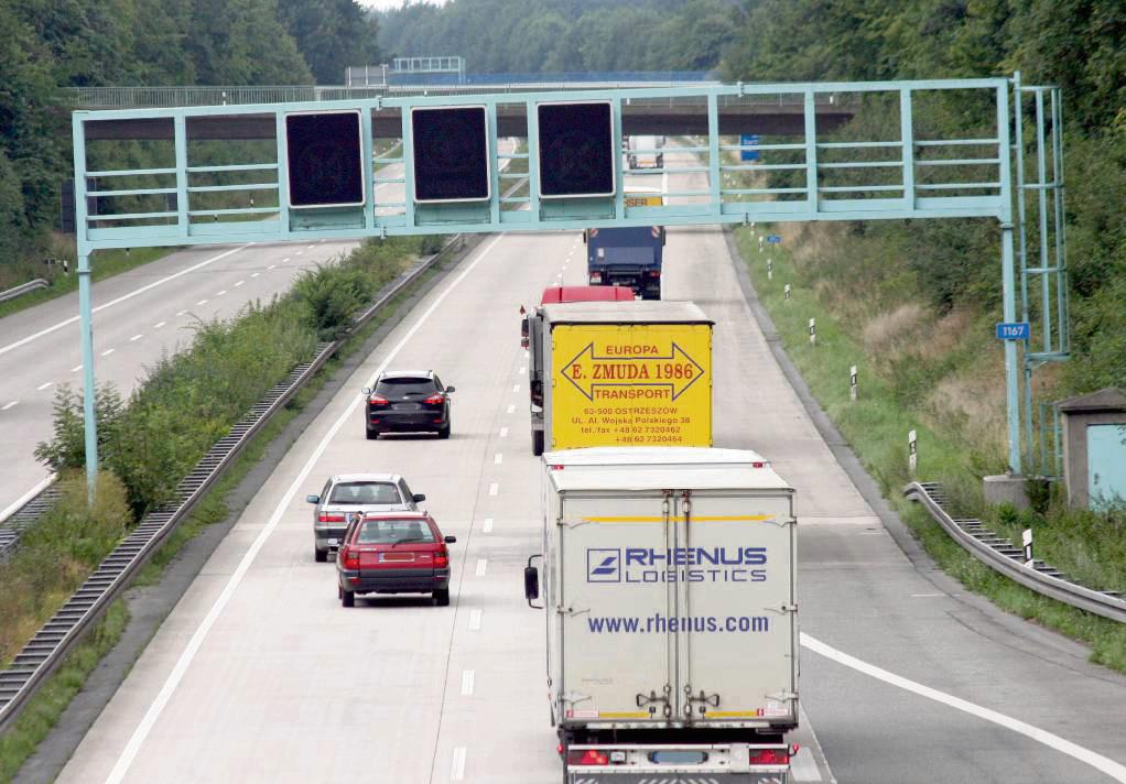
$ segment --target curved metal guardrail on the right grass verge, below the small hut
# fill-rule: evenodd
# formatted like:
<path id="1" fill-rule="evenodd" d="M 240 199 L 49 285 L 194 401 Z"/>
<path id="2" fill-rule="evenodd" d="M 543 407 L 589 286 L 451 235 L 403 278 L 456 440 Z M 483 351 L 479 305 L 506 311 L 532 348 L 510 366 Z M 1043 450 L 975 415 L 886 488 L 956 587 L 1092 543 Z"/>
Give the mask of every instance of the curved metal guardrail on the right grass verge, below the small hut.
<path id="1" fill-rule="evenodd" d="M 1088 588 L 1042 560 L 1026 565 L 1019 548 L 984 528 L 980 520 L 951 516 L 941 483 L 913 481 L 903 488 L 903 495 L 922 504 L 954 541 L 995 571 L 1057 602 L 1126 623 L 1126 594 Z"/>

